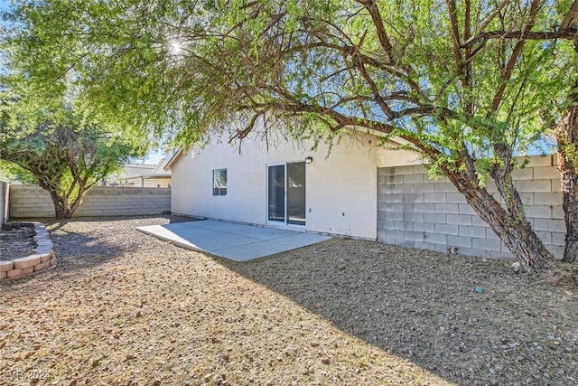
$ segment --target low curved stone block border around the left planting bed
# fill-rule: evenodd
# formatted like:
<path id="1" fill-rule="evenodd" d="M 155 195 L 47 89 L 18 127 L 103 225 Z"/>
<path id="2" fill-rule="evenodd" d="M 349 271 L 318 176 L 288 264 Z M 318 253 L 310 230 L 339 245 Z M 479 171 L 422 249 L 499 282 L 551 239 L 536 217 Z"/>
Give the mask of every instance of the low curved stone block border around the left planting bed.
<path id="1" fill-rule="evenodd" d="M 34 226 L 34 242 L 36 248 L 33 254 L 25 258 L 0 261 L 0 281 L 12 278 L 22 278 L 34 272 L 56 266 L 52 240 L 42 222 L 7 222 L 5 228 L 16 228 L 23 225 Z"/>

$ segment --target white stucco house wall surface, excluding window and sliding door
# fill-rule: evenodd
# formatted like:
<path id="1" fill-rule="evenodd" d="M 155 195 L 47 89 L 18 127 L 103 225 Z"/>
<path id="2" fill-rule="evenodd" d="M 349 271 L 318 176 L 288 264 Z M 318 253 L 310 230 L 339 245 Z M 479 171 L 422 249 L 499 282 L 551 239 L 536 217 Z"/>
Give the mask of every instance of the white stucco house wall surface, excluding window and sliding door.
<path id="1" fill-rule="evenodd" d="M 278 140 L 269 146 L 245 140 L 242 155 L 227 141 L 190 148 L 172 165 L 172 212 L 267 225 L 267 165 L 306 165 L 307 231 L 377 238 L 375 138 L 342 137 L 328 146 Z M 227 169 L 227 195 L 212 195 L 212 170 Z M 278 223 L 274 223 L 275 225 Z"/>

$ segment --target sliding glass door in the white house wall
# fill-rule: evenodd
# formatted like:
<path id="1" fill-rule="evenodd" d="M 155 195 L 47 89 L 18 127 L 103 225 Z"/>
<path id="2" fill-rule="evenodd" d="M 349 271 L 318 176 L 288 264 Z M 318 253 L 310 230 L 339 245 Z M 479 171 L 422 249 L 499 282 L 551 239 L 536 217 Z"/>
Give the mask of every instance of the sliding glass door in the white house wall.
<path id="1" fill-rule="evenodd" d="M 305 225 L 305 163 L 268 166 L 268 219 Z"/>

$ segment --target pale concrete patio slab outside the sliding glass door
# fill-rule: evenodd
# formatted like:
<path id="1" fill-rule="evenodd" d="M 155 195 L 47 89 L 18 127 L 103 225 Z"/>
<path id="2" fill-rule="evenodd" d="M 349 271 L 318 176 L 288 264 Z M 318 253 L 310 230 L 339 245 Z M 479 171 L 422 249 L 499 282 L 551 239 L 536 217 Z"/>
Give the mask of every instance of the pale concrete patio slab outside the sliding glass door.
<path id="1" fill-rule="evenodd" d="M 182 248 L 209 252 L 235 261 L 258 259 L 331 239 L 313 233 L 211 220 L 136 229 Z"/>

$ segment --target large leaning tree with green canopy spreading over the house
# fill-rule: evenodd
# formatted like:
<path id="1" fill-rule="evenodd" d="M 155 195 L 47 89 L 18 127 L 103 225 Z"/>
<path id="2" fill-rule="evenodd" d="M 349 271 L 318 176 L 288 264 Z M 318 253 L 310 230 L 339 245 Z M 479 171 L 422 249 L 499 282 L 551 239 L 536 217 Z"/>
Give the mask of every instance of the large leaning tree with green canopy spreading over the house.
<path id="1" fill-rule="evenodd" d="M 512 172 L 575 69 L 572 33 L 534 33 L 559 23 L 552 11 L 545 0 L 30 2 L 14 9 L 23 30 L 10 42 L 33 79 L 73 69 L 68 81 L 107 114 L 182 143 L 239 115 L 238 139 L 279 120 L 295 137 L 401 137 L 533 272 L 553 256 Z"/>

